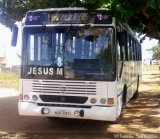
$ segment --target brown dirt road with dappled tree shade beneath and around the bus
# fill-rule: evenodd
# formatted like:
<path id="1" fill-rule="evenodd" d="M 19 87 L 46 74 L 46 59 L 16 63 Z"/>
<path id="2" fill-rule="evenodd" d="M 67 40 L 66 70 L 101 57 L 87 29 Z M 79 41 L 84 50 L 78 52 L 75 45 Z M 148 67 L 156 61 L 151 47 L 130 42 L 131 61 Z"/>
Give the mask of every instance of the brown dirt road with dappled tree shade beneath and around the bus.
<path id="1" fill-rule="evenodd" d="M 0 138 L 160 138 L 160 73 L 143 72 L 140 98 L 123 110 L 122 124 L 18 115 L 15 91 L 0 89 Z"/>

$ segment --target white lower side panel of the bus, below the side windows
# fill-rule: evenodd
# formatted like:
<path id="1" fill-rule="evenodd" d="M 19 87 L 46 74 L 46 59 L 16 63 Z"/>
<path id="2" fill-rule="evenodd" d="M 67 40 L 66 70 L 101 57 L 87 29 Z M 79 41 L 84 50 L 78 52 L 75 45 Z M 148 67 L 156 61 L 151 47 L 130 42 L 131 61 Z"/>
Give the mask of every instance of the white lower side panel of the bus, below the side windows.
<path id="1" fill-rule="evenodd" d="M 117 65 L 118 65 L 117 66 L 118 94 L 122 94 L 123 96 L 124 86 L 126 85 L 127 87 L 126 103 L 127 103 L 137 90 L 137 81 L 140 71 L 139 67 L 141 64 L 140 62 L 137 61 L 124 61 L 121 77 L 119 76 L 119 73 L 121 70 L 122 61 L 118 61 Z"/>

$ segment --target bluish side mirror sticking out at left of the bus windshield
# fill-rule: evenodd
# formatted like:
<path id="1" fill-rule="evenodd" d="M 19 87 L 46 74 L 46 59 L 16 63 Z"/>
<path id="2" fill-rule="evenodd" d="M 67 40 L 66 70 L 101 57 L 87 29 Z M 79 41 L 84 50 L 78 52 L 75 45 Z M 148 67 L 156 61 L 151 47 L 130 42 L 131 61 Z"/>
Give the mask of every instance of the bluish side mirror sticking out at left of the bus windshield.
<path id="1" fill-rule="evenodd" d="M 17 25 L 14 25 L 12 28 L 12 38 L 11 38 L 11 45 L 12 46 L 17 45 L 17 38 L 18 38 L 18 27 L 17 27 Z"/>

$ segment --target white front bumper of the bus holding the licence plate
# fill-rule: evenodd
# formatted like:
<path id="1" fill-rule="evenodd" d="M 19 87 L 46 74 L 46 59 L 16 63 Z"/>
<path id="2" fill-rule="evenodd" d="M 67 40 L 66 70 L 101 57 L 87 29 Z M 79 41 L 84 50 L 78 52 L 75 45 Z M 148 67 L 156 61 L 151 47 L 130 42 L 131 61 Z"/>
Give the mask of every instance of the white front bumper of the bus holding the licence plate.
<path id="1" fill-rule="evenodd" d="M 19 115 L 62 117 L 74 119 L 92 119 L 102 121 L 115 121 L 117 107 L 92 106 L 91 108 L 38 106 L 36 103 L 19 102 Z"/>

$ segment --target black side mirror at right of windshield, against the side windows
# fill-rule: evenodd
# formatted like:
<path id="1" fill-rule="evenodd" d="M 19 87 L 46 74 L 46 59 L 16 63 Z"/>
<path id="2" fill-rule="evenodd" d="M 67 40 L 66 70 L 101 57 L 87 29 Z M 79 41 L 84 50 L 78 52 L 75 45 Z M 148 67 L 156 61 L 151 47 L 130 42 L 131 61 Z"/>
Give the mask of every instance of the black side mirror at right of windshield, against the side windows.
<path id="1" fill-rule="evenodd" d="M 117 33 L 117 38 L 118 38 L 120 46 L 126 46 L 127 45 L 126 32 L 118 32 Z"/>

